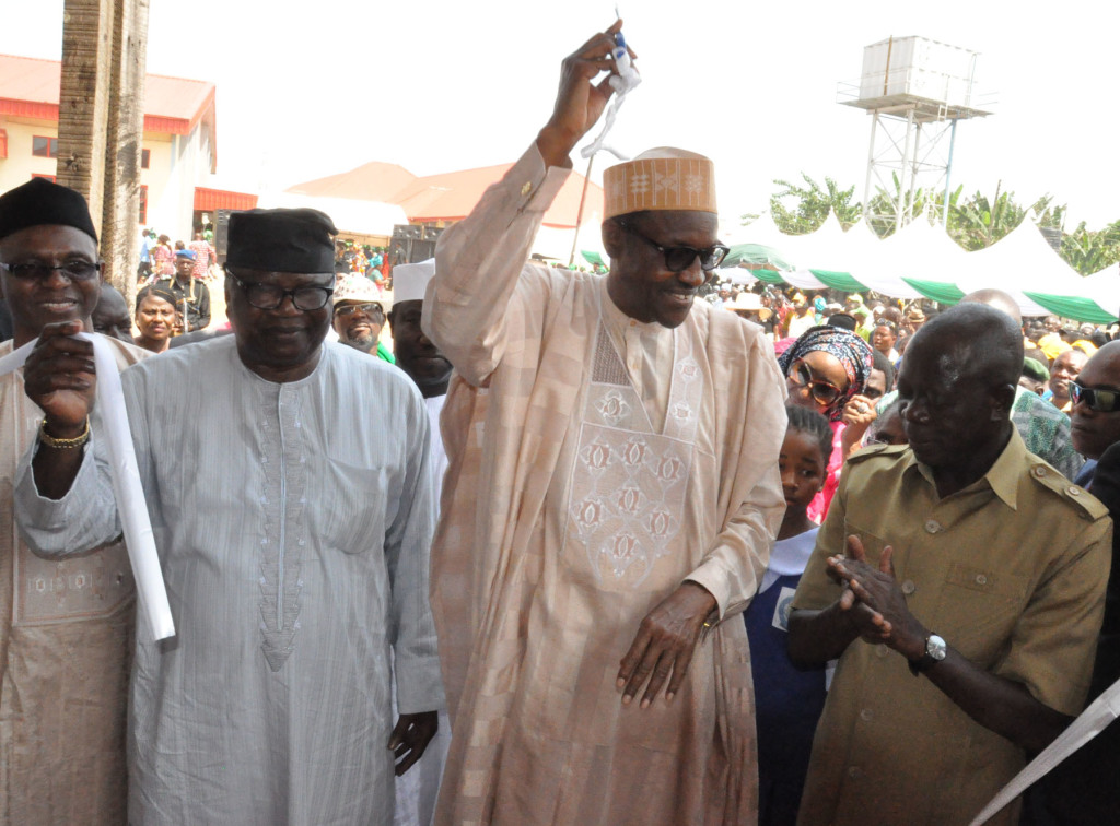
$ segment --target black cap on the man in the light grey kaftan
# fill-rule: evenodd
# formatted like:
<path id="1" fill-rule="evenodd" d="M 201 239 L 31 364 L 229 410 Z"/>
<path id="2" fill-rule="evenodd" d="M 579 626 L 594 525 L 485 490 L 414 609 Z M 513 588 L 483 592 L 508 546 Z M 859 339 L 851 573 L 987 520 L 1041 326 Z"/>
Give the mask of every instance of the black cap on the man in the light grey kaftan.
<path id="1" fill-rule="evenodd" d="M 225 263 L 271 272 L 334 272 L 338 234 L 318 209 L 251 209 L 230 216 Z"/>

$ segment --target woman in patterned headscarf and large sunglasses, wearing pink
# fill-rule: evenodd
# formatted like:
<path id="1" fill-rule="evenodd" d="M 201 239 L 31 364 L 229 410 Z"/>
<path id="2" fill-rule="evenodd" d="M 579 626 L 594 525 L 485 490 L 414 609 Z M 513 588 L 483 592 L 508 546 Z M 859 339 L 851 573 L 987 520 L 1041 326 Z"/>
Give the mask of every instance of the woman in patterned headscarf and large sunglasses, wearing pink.
<path id="1" fill-rule="evenodd" d="M 824 489 L 808 509 L 812 519 L 823 522 L 840 482 L 843 460 L 858 442 L 844 440 L 844 431 L 857 425 L 861 437 L 875 421 L 875 404 L 864 396 L 874 365 L 871 348 L 855 332 L 822 325 L 802 334 L 777 362 L 790 404 L 815 410 L 832 428 L 832 457 Z"/>

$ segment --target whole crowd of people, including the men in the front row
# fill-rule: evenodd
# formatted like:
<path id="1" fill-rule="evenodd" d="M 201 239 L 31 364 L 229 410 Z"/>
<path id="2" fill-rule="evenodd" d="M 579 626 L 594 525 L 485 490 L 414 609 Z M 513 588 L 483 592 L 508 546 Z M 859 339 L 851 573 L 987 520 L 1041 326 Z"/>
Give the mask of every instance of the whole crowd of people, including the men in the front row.
<path id="1" fill-rule="evenodd" d="M 683 149 L 605 171 L 609 271 L 530 260 L 620 25 L 392 304 L 384 251 L 254 209 L 230 335 L 157 236 L 130 344 L 82 196 L 0 196 L 0 824 L 968 824 L 1120 678 L 1107 332 L 704 300 Z M 1118 741 L 992 823 L 1110 823 Z"/>

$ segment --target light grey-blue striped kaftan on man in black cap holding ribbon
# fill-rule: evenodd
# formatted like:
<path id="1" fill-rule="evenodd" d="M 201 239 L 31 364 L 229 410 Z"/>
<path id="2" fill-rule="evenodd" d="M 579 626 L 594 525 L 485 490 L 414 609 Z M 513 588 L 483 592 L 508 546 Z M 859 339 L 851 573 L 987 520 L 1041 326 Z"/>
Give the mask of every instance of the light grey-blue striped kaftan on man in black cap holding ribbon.
<path id="1" fill-rule="evenodd" d="M 287 384 L 232 336 L 138 367 L 124 395 L 178 636 L 152 642 L 140 613 L 130 822 L 391 824 L 391 646 L 400 711 L 444 704 L 419 392 L 330 344 Z M 57 503 L 20 473 L 40 552 L 119 533 L 97 444 Z"/>

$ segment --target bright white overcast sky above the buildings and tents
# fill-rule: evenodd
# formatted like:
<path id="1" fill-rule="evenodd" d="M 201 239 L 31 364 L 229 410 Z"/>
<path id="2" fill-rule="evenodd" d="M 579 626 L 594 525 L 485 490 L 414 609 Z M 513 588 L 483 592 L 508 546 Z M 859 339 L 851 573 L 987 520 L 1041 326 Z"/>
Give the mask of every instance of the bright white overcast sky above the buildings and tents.
<path id="1" fill-rule="evenodd" d="M 0 0 L 0 53 L 58 58 L 62 0 Z M 217 186 L 250 191 L 372 160 L 417 175 L 515 160 L 552 109 L 559 66 L 614 19 L 591 0 L 151 0 L 148 71 L 217 85 Z M 1040 4 L 1037 7 L 1043 9 Z M 1120 219 L 1114 40 L 1120 4 L 1064 0 L 623 2 L 643 84 L 608 141 L 716 161 L 725 214 L 775 178 L 857 185 L 870 119 L 839 105 L 862 49 L 918 35 L 980 53 L 996 113 L 958 129 L 965 193 L 1070 206 L 1066 229 Z M 609 156 L 596 159 L 601 179 Z M 577 157 L 576 166 L 586 162 Z"/>

